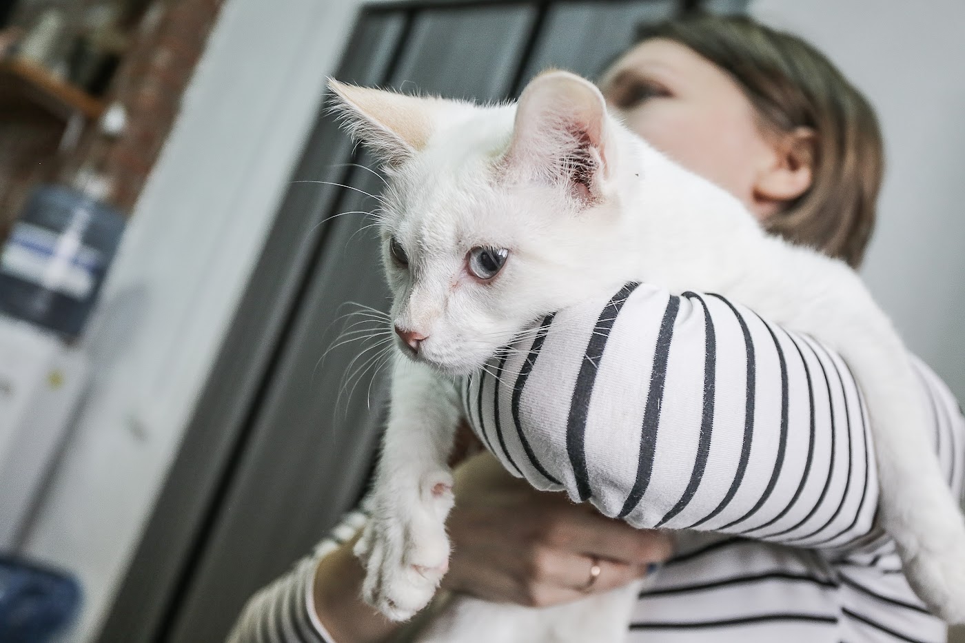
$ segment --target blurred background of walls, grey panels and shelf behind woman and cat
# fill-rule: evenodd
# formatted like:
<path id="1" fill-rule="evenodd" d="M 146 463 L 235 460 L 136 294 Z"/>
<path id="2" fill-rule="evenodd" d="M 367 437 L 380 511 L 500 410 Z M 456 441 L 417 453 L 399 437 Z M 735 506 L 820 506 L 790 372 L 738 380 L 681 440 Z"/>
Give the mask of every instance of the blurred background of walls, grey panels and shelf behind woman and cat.
<path id="1" fill-rule="evenodd" d="M 222 640 L 357 500 L 382 382 L 340 397 L 359 348 L 319 358 L 345 302 L 386 293 L 364 218 L 333 218 L 372 201 L 325 182 L 379 182 L 326 76 L 508 98 L 696 8 L 801 34 L 877 108 L 864 275 L 965 399 L 960 0 L 0 0 L 0 621 L 34 624 L 15 640 Z"/>

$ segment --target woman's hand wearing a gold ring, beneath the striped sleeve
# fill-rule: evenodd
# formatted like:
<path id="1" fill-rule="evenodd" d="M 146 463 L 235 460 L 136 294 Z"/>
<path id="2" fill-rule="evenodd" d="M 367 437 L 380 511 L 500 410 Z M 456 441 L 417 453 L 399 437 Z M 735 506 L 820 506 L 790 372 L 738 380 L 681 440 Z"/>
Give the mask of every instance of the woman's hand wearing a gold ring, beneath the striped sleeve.
<path id="1" fill-rule="evenodd" d="M 489 452 L 455 469 L 453 541 L 442 586 L 486 601 L 548 606 L 640 578 L 674 551 L 669 534 L 603 517 L 563 492 L 533 489 Z"/>

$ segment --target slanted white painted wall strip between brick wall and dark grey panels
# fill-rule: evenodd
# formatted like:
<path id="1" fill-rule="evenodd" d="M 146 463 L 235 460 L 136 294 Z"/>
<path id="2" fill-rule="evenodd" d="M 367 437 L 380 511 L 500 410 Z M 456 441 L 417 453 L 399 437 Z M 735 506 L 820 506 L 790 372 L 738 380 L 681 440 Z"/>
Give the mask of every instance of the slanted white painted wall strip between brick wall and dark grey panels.
<path id="1" fill-rule="evenodd" d="M 95 633 L 262 248 L 354 0 L 229 0 L 84 340 L 97 374 L 23 553 L 77 573 Z"/>

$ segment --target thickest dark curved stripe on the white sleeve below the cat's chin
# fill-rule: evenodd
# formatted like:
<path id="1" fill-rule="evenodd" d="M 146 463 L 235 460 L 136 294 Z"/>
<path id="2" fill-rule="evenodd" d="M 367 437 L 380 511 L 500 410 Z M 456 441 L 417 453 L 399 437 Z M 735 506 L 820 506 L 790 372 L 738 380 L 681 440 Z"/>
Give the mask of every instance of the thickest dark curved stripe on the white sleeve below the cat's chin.
<path id="1" fill-rule="evenodd" d="M 584 436 L 587 431 L 587 414 L 590 412 L 590 399 L 593 396 L 596 371 L 599 368 L 600 360 L 603 358 L 603 350 L 606 349 L 607 340 L 610 338 L 610 330 L 613 328 L 614 322 L 617 321 L 617 316 L 620 315 L 620 308 L 623 307 L 627 297 L 639 285 L 626 284 L 603 307 L 599 319 L 596 321 L 596 326 L 593 328 L 590 341 L 587 343 L 587 349 L 583 353 L 583 363 L 580 364 L 580 372 L 573 387 L 573 396 L 569 403 L 569 417 L 566 419 L 566 453 L 569 455 L 569 462 L 573 467 L 576 490 L 581 501 L 589 500 L 592 495 L 590 474 L 587 471 Z"/>

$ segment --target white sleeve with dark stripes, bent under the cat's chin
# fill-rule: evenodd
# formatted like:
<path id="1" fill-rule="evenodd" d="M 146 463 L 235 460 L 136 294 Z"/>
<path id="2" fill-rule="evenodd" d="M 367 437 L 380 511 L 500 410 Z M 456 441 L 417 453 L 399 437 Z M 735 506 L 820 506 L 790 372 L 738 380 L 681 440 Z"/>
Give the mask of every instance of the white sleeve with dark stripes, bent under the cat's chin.
<path id="1" fill-rule="evenodd" d="M 510 472 L 633 526 L 883 543 L 868 412 L 847 366 L 723 296 L 627 285 L 547 316 L 462 390 Z M 951 481 L 962 444 L 932 421 Z"/>

